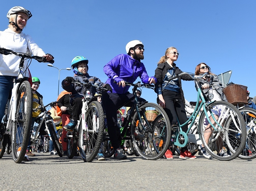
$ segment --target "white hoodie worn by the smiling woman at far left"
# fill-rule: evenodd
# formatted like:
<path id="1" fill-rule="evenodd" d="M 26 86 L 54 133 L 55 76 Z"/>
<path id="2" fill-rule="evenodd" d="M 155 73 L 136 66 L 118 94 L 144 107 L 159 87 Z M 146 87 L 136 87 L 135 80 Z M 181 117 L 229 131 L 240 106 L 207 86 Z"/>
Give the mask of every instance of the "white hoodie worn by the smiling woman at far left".
<path id="1" fill-rule="evenodd" d="M 9 28 L 4 31 L 0 31 L 0 47 L 11 49 L 15 52 L 26 53 L 29 51 L 35 56 L 45 55 L 44 51 L 38 47 L 29 35 L 25 35 L 23 32 L 15 33 Z M 17 76 L 19 64 L 19 56 L 13 54 L 0 54 L 0 75 Z M 27 61 L 24 62 L 24 70 L 26 67 Z M 25 72 L 25 76 L 28 77 L 28 72 Z"/>

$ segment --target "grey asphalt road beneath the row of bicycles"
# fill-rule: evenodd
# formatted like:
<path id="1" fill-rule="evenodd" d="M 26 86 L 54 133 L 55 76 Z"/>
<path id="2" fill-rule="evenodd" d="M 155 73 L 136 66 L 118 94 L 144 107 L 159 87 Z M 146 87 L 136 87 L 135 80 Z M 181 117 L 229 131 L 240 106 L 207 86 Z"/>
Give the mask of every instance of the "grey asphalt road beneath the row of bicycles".
<path id="1" fill-rule="evenodd" d="M 256 159 L 219 161 L 196 159 L 145 160 L 134 155 L 86 163 L 36 153 L 16 164 L 12 155 L 0 159 L 2 191 L 9 190 L 255 190 Z"/>

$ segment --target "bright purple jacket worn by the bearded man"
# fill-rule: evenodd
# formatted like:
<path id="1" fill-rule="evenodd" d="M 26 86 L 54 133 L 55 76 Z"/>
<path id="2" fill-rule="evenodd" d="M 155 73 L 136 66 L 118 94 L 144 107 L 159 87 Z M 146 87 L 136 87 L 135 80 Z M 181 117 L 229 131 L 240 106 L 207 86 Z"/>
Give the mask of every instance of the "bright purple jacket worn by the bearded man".
<path id="1" fill-rule="evenodd" d="M 134 83 L 135 80 L 140 77 L 142 83 L 149 84 L 149 76 L 144 64 L 133 59 L 128 54 L 119 54 L 114 57 L 104 66 L 103 71 L 108 76 L 106 83 L 110 84 L 113 93 L 124 94 L 128 92 L 130 88 L 130 86 L 125 86 L 124 88 L 122 86 L 118 87 L 113 80 L 113 77 L 116 75 L 118 76 L 115 78 L 115 81 L 117 82 L 124 80 L 126 82 Z M 155 77 L 151 78 L 156 80 Z"/>

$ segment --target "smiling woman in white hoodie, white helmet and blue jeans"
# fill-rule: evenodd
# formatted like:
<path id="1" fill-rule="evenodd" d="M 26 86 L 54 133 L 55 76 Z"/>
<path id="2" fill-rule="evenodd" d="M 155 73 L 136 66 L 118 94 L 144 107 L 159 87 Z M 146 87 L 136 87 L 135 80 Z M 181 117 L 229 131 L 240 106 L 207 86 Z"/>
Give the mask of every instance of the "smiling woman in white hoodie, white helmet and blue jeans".
<path id="1" fill-rule="evenodd" d="M 27 24 L 27 20 L 32 17 L 30 11 L 23 7 L 13 7 L 7 13 L 9 19 L 9 28 L 0 31 L 0 47 L 11 49 L 16 52 L 31 52 L 35 56 L 44 56 L 47 61 L 52 60 L 51 54 L 45 54 L 38 47 L 29 35 L 25 35 L 22 30 Z M 8 100 L 9 92 L 13 87 L 12 79 L 18 75 L 18 67 L 20 57 L 9 54 L 0 54 L 0 120 L 4 116 L 5 106 Z M 27 62 L 24 62 L 24 68 L 27 67 Z M 28 72 L 24 72 L 25 77 L 28 77 Z"/>

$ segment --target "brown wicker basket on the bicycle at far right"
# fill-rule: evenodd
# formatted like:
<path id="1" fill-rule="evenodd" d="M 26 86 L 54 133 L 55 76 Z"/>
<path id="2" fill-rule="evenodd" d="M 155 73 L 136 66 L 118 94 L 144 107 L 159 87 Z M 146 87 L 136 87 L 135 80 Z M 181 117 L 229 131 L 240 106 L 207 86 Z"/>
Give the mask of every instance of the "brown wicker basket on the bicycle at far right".
<path id="1" fill-rule="evenodd" d="M 229 103 L 233 105 L 247 104 L 247 86 L 232 84 L 223 89 Z"/>

